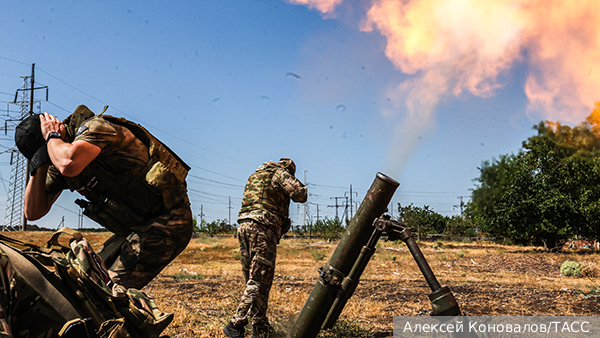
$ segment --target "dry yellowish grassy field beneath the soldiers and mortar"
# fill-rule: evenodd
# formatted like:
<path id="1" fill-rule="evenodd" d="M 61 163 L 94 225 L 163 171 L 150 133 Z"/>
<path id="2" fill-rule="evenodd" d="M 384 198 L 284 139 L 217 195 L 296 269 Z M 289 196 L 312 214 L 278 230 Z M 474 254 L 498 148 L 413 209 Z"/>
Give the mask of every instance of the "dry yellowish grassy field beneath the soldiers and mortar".
<path id="1" fill-rule="evenodd" d="M 22 233 L 11 233 L 21 236 Z M 48 233 L 23 238 L 48 238 Z M 107 234 L 84 234 L 98 248 Z M 293 324 L 337 243 L 283 239 L 278 246 L 269 318 L 281 334 Z M 541 248 L 487 242 L 421 242 L 442 285 L 450 287 L 467 315 L 600 315 L 599 255 L 589 251 L 549 253 Z M 584 276 L 565 277 L 565 261 L 584 262 Z M 224 337 L 244 281 L 237 240 L 193 238 L 185 251 L 144 291 L 175 320 L 165 334 Z M 392 337 L 393 316 L 426 316 L 427 284 L 402 242 L 380 242 L 354 296 L 331 332 L 320 337 Z"/>

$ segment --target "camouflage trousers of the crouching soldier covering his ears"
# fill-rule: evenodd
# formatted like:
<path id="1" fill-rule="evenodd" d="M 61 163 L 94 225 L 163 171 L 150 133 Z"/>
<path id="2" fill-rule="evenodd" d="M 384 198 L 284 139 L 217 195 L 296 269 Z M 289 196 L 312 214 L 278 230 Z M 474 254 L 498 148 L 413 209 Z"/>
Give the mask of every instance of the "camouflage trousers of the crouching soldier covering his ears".
<path id="1" fill-rule="evenodd" d="M 127 237 L 109 238 L 98 254 L 113 282 L 142 289 L 190 242 L 193 221 L 189 200 L 185 198 L 171 209 L 163 208 L 132 230 Z"/>

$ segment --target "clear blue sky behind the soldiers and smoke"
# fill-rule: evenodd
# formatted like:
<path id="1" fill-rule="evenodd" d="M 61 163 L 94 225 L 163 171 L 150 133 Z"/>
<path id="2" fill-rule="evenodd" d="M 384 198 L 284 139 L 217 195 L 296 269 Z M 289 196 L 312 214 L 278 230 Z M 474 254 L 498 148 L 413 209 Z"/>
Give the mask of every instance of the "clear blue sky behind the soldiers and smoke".
<path id="1" fill-rule="evenodd" d="M 18 110 L 7 102 L 35 63 L 36 85 L 49 88 L 48 102 L 36 92 L 42 111 L 63 119 L 79 104 L 96 113 L 109 105 L 107 114 L 144 125 L 191 165 L 193 213 L 209 221 L 235 221 L 248 175 L 280 157 L 306 175 L 313 217 L 317 208 L 335 216 L 334 197 L 349 197 L 351 185 L 360 202 L 378 171 L 400 182 L 394 203 L 459 214 L 454 205 L 468 200 L 481 162 L 517 152 L 545 118 L 528 111 L 530 66 L 502 69 L 487 97 L 441 93 L 406 141 L 407 109 L 389 93 L 412 75 L 386 56 L 384 34 L 360 29 L 366 3 L 333 16 L 279 0 L 7 1 L 2 116 Z M 410 150 L 398 155 L 402 142 Z M 13 144 L 11 132 L 0 137 L 1 151 Z M 0 154 L 2 214 L 9 161 Z M 76 197 L 64 192 L 35 223 L 52 228 L 64 216 L 76 227 Z"/>

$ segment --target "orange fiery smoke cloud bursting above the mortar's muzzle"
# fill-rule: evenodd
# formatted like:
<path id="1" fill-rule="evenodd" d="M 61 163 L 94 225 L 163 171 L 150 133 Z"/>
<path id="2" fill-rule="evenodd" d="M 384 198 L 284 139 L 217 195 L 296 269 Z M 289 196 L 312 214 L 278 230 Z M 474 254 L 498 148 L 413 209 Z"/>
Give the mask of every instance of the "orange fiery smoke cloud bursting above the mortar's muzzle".
<path id="1" fill-rule="evenodd" d="M 342 0 L 292 0 L 332 17 Z M 527 66 L 528 114 L 579 123 L 600 100 L 597 0 L 373 0 L 360 29 L 387 39 L 386 56 L 410 79 L 390 87 L 406 112 L 390 154 L 400 170 L 445 94 L 493 95 L 498 75 Z"/>

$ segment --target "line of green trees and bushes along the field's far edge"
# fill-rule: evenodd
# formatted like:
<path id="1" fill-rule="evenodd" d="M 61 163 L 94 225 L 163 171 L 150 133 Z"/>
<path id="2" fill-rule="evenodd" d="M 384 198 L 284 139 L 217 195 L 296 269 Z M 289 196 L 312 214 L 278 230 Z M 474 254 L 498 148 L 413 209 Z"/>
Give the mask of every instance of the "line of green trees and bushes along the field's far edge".
<path id="1" fill-rule="evenodd" d="M 600 237 L 600 102 L 579 125 L 541 121 L 537 135 L 514 154 L 485 160 L 462 215 L 444 216 L 428 205 L 398 203 L 399 221 L 420 238 L 499 237 L 517 244 L 560 246 Z M 349 220 L 324 218 L 295 225 L 295 235 L 335 240 Z M 196 225 L 209 234 L 233 233 L 226 220 Z"/>

